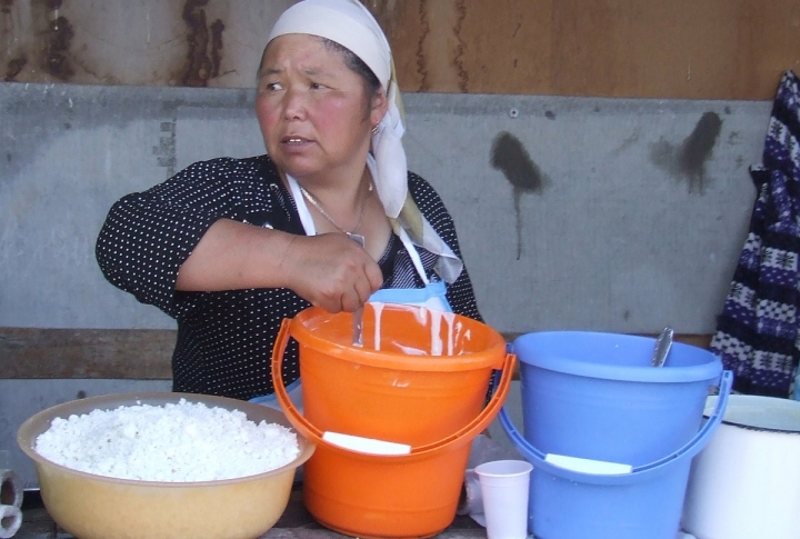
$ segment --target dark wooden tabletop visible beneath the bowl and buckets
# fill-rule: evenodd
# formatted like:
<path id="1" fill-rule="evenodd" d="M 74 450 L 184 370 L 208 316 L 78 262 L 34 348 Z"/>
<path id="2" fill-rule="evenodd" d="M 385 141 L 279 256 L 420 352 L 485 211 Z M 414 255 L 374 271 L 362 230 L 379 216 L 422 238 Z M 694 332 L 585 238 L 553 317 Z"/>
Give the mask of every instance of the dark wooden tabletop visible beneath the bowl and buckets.
<path id="1" fill-rule="evenodd" d="M 283 516 L 260 539 L 346 539 L 348 537 L 317 523 L 303 506 L 300 485 L 296 485 Z M 486 539 L 487 533 L 486 529 L 471 518 L 457 516 L 450 527 L 436 537 L 437 539 Z M 22 527 L 13 539 L 74 538 L 72 535 L 59 529 L 56 522 L 52 521 L 41 502 L 39 493 L 28 491 L 22 503 Z"/>

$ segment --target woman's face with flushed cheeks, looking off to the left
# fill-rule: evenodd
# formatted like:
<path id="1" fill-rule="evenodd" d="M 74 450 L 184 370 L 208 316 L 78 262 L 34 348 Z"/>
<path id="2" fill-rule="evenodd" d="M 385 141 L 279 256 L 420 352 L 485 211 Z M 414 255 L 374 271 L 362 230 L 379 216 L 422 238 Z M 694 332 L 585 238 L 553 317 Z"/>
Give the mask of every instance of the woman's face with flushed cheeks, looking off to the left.
<path id="1" fill-rule="evenodd" d="M 256 113 L 267 152 L 281 170 L 297 179 L 360 174 L 370 130 L 384 112 L 382 92 L 368 97 L 361 77 L 320 38 L 290 33 L 269 44 Z"/>

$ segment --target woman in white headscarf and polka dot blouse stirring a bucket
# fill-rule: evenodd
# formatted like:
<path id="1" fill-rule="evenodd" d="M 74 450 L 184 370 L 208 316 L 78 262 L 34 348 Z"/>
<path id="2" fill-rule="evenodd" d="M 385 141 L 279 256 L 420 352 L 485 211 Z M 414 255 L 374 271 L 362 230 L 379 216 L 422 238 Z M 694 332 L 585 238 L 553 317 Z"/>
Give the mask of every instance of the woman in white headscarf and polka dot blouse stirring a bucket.
<path id="1" fill-rule="evenodd" d="M 481 320 L 452 219 L 406 168 L 391 51 L 363 6 L 287 10 L 256 113 L 268 154 L 198 162 L 129 194 L 98 238 L 107 279 L 177 319 L 176 391 L 269 398 L 280 323 L 312 305 L 371 299 Z M 291 389 L 297 343 L 286 353 Z"/>

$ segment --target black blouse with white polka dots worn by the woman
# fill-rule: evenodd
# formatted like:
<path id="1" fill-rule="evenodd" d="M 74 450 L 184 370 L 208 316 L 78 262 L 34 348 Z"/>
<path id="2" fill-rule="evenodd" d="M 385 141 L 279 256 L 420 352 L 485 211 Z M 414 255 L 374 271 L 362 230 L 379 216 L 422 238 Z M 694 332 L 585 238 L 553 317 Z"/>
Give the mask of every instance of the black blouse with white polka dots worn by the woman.
<path id="1" fill-rule="evenodd" d="M 433 188 L 409 172 L 409 189 L 433 229 L 461 252 L 452 218 Z M 163 183 L 113 204 L 96 253 L 106 278 L 178 321 L 172 356 L 173 390 L 249 400 L 273 391 L 270 360 L 281 321 L 310 303 L 288 289 L 222 292 L 176 291 L 178 270 L 218 219 L 234 219 L 304 234 L 294 201 L 268 156 L 194 163 Z M 431 279 L 437 257 L 419 249 Z M 398 238 L 380 261 L 387 288 L 421 288 Z M 482 321 L 467 270 L 448 287 L 459 315 Z M 297 342 L 290 339 L 283 382 L 299 377 Z"/>

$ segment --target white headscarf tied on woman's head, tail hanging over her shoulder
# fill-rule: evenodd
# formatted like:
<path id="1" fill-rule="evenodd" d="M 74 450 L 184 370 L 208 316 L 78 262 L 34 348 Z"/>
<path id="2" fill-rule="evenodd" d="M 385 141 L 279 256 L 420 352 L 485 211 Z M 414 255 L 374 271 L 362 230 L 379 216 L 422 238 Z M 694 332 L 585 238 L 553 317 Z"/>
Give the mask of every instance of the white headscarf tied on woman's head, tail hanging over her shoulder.
<path id="1" fill-rule="evenodd" d="M 372 136 L 378 197 L 396 232 L 397 227 L 402 227 L 414 243 L 438 254 L 437 273 L 444 281 L 453 282 L 463 263 L 436 233 L 408 192 L 402 100 L 391 48 L 378 21 L 358 0 L 303 0 L 280 16 L 268 42 L 286 33 L 306 33 L 334 41 L 359 57 L 378 77 L 389 104 Z"/>

